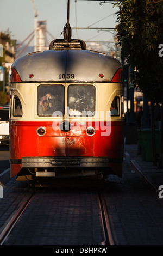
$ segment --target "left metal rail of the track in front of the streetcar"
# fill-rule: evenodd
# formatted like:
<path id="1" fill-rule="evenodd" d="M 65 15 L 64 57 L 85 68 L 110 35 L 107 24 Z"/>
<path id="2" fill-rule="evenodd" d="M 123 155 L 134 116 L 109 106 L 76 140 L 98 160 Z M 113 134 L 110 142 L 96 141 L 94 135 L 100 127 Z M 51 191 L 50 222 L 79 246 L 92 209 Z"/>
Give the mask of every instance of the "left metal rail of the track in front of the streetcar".
<path id="1" fill-rule="evenodd" d="M 24 210 L 26 210 L 28 204 L 32 200 L 34 196 L 34 193 L 30 193 L 28 196 L 26 196 L 23 200 L 22 205 L 18 210 L 15 212 L 15 214 L 12 216 L 11 220 L 8 222 L 7 225 L 5 225 L 4 229 L 2 230 L 0 234 L 0 245 L 3 245 L 5 240 L 7 240 L 9 234 L 11 233 L 11 230 L 14 228 L 15 224 L 17 221 L 20 219 L 22 216 Z"/>

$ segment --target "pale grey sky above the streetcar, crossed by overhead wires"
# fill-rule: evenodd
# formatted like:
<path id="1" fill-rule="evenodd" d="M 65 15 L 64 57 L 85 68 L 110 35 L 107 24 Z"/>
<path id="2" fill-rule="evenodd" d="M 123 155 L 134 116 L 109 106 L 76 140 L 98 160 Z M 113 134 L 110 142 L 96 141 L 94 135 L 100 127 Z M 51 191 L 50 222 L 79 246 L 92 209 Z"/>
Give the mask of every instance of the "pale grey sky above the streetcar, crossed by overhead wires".
<path id="1" fill-rule="evenodd" d="M 71 27 L 115 27 L 117 7 L 101 1 L 70 1 Z M 38 20 L 47 21 L 47 31 L 54 38 L 62 38 L 61 32 L 67 22 L 67 0 L 34 0 Z M 110 17 L 107 17 L 109 16 Z M 107 17 L 106 19 L 104 19 Z M 103 20 L 102 20 L 103 19 Z M 99 20 L 102 20 L 98 22 Z M 11 38 L 22 42 L 34 30 L 34 10 L 31 0 L 0 0 L 0 29 L 11 31 Z M 72 38 L 82 40 L 112 41 L 110 32 L 95 29 L 72 29 Z M 91 39 L 92 38 L 92 39 Z M 53 38 L 48 37 L 49 42 Z M 28 41 L 27 41 L 28 42 Z M 30 43 L 33 45 L 33 41 Z"/>

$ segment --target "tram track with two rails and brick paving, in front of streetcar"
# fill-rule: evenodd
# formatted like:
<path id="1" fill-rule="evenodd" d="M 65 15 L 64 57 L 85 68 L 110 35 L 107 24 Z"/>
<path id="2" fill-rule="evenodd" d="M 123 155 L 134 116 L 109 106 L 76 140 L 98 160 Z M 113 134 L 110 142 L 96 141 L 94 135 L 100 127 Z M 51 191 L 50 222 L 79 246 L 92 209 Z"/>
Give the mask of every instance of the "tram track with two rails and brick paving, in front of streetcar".
<path id="1" fill-rule="evenodd" d="M 87 199 L 83 199 L 83 198 L 86 198 L 85 197 L 85 190 L 84 190 L 84 193 L 81 192 L 80 190 L 79 191 L 77 190 L 77 193 L 79 193 L 79 196 L 76 196 L 76 194 L 74 194 L 74 196 L 72 197 L 71 195 L 70 196 L 67 195 L 67 193 L 65 194 L 62 190 L 60 192 L 58 192 L 58 191 L 51 191 L 50 193 L 47 190 L 43 190 L 43 191 L 42 190 L 38 190 L 38 191 L 35 191 L 35 192 L 34 191 L 30 191 L 30 193 L 28 193 L 28 195 L 26 197 L 24 197 L 21 206 L 16 210 L 16 212 L 11 217 L 10 221 L 8 222 L 8 224 L 5 225 L 5 227 L 3 228 L 3 230 L 2 230 L 2 232 L 0 234 L 0 245 L 6 245 L 6 244 L 12 244 L 13 243 L 12 242 L 13 239 L 11 237 L 13 236 L 13 232 L 15 233 L 15 229 L 17 229 L 17 225 L 20 225 L 20 222 L 19 222 L 19 224 L 17 222 L 20 220 L 21 217 L 22 218 L 27 218 L 26 217 L 26 212 L 33 211 L 32 210 L 32 207 L 33 207 L 32 205 L 34 205 L 34 204 L 32 203 L 32 200 L 34 200 L 34 202 L 35 202 L 35 201 L 37 201 L 37 198 L 40 198 L 40 199 L 42 198 L 40 203 L 37 205 L 37 207 L 39 207 L 39 209 L 40 209 L 42 200 L 43 201 L 44 200 L 47 201 L 47 198 L 49 198 L 49 194 L 51 194 L 51 196 L 55 198 L 54 199 L 55 204 L 54 204 L 53 207 L 56 208 L 57 211 L 58 211 L 58 208 L 60 207 L 59 205 L 56 204 L 56 202 L 58 202 L 57 197 L 60 197 L 60 196 L 62 197 L 62 202 L 60 200 L 61 207 L 62 207 L 62 203 L 65 202 L 65 198 L 67 198 L 67 200 L 70 200 L 70 198 L 72 197 L 71 201 L 74 200 L 74 206 L 73 206 L 74 207 L 74 211 L 72 212 L 72 206 L 70 206 L 70 209 L 68 210 L 69 214 L 70 214 L 70 212 L 72 212 L 70 214 L 70 217 L 68 217 L 68 221 L 70 222 L 70 223 L 68 222 L 69 226 L 73 225 L 72 223 L 74 221 L 74 218 L 75 219 L 77 218 L 78 222 L 79 222 L 79 224 L 77 224 L 77 225 L 80 225 L 80 227 L 82 228 L 81 232 L 85 232 L 83 227 L 81 226 L 81 223 L 80 223 L 81 218 L 83 218 L 83 220 L 84 220 L 84 218 L 91 218 L 92 219 L 93 216 L 96 216 L 96 217 L 98 216 L 98 221 L 94 222 L 94 227 L 93 227 L 93 224 L 91 226 L 89 223 L 87 223 L 87 226 L 91 227 L 92 230 L 96 230 L 96 231 L 97 231 L 97 229 L 99 230 L 98 231 L 99 233 L 97 235 L 98 236 L 98 240 L 96 238 L 96 245 L 102 245 L 102 246 L 115 245 L 114 236 L 112 235 L 110 220 L 109 220 L 109 216 L 108 216 L 108 212 L 107 212 L 107 208 L 106 208 L 106 204 L 105 204 L 105 198 L 104 198 L 103 191 L 96 191 L 96 190 L 92 191 L 91 190 L 89 192 L 90 193 L 89 202 L 91 202 L 91 194 L 93 194 L 93 197 L 92 197 L 93 205 L 94 205 L 93 207 L 95 209 L 98 209 L 98 211 L 96 211 L 96 210 L 93 211 L 93 213 L 92 213 L 93 216 L 90 215 L 90 217 L 87 217 L 86 213 L 85 213 L 86 214 L 85 217 L 82 216 L 82 212 L 83 213 L 87 212 L 89 214 L 90 209 L 91 209 L 91 206 L 88 206 L 87 203 L 85 204 L 85 206 L 83 205 L 83 202 L 85 202 L 85 200 L 87 201 Z M 88 193 L 88 192 L 86 192 L 86 193 Z M 89 195 L 89 193 L 88 193 L 88 195 Z M 44 195 L 45 195 L 45 198 L 44 198 Z M 80 206 L 80 208 L 76 209 L 76 206 L 75 206 L 76 203 L 75 202 L 76 202 L 78 197 L 81 199 L 81 203 L 79 203 L 79 205 L 81 204 L 81 206 Z M 30 202 L 32 204 L 30 204 Z M 85 210 L 83 210 L 83 207 L 84 207 Z M 53 210 L 54 210 L 54 208 L 53 208 Z M 67 209 L 68 209 L 67 205 L 65 205 L 65 212 L 67 211 Z M 79 215 L 76 215 L 77 211 L 79 211 L 81 213 Z M 60 212 L 60 215 L 62 215 L 62 212 Z M 51 214 L 50 214 L 50 216 L 52 217 Z M 22 218 L 21 218 L 21 220 L 22 220 Z M 31 220 L 33 220 L 33 218 L 34 217 L 31 216 Z M 42 216 L 42 218 L 43 218 L 43 216 Z M 55 215 L 54 215 L 53 218 L 55 220 L 55 218 L 56 218 Z M 91 221 L 91 219 L 90 219 L 90 221 Z M 59 220 L 57 222 L 59 222 Z M 57 228 L 58 232 L 59 232 L 61 226 L 62 226 L 62 223 L 60 222 L 60 224 L 58 225 L 58 228 Z M 35 226 L 35 229 L 37 229 L 37 225 Z M 76 227 L 74 227 L 74 229 L 76 229 Z M 28 229 L 26 230 L 26 227 L 24 227 L 24 232 L 28 236 Z M 51 230 L 49 230 L 49 228 L 47 227 L 46 232 L 50 233 Z M 67 230 L 65 230 L 65 233 L 67 233 L 67 232 L 68 233 L 70 233 L 70 232 L 75 233 L 76 230 L 67 229 Z M 93 231 L 91 231 L 91 232 L 93 232 Z M 100 235 L 100 233 L 101 233 L 101 235 Z M 59 232 L 59 234 L 60 234 L 60 232 Z M 83 237 L 83 236 L 81 236 L 81 237 Z M 74 238 L 72 236 L 70 238 L 67 237 L 67 239 L 69 239 L 70 241 L 71 240 L 73 241 Z M 26 236 L 24 237 L 24 241 L 26 242 Z M 93 238 L 92 238 L 92 241 L 93 241 Z M 62 242 L 64 244 L 64 241 L 62 241 Z M 13 245 L 14 245 L 14 243 L 13 243 Z M 41 244 L 41 243 L 39 242 L 38 244 Z M 53 244 L 53 243 L 51 243 L 51 244 Z M 79 240 L 79 244 L 80 244 L 80 240 Z M 87 244 L 87 241 L 85 240 L 85 245 L 86 244 Z"/>

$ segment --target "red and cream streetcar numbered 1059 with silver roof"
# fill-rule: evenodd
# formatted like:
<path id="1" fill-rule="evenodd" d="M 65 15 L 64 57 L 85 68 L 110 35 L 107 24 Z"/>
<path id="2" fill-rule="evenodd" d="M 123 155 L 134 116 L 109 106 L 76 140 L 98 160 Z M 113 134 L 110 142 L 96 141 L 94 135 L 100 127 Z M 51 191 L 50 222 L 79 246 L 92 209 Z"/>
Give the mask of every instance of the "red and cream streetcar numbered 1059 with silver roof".
<path id="1" fill-rule="evenodd" d="M 122 65 L 64 31 L 49 50 L 11 67 L 10 176 L 17 181 L 122 176 Z"/>

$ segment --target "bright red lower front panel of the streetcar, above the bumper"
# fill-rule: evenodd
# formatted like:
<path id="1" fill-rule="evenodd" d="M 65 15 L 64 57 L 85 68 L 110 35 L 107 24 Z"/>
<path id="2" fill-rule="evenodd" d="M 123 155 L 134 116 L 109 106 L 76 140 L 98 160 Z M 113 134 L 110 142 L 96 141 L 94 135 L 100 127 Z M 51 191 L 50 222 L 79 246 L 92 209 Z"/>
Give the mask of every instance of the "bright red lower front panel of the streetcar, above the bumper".
<path id="1" fill-rule="evenodd" d="M 36 133 L 40 126 L 46 129 L 46 134 L 42 137 Z M 101 156 L 123 159 L 123 122 L 112 122 L 109 136 L 102 136 L 104 127 L 101 129 L 97 123 L 93 123 L 92 126 L 96 130 L 95 135 L 88 136 L 87 124 L 74 125 L 70 131 L 62 132 L 59 125 L 54 126 L 52 122 L 12 122 L 10 124 L 10 159 L 18 160 L 29 156 Z M 17 169 L 11 168 L 11 176 L 15 176 L 20 169 L 21 164 L 17 164 Z"/>

